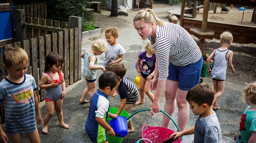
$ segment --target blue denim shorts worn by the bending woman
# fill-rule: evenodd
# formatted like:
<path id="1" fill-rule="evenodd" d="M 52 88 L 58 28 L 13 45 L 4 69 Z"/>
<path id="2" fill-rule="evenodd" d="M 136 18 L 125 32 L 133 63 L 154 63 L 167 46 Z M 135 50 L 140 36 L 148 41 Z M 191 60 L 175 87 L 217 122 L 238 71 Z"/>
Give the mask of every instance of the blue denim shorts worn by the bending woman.
<path id="1" fill-rule="evenodd" d="M 196 63 L 185 66 L 175 66 L 169 63 L 169 80 L 178 81 L 178 88 L 189 90 L 199 83 L 203 58 Z"/>

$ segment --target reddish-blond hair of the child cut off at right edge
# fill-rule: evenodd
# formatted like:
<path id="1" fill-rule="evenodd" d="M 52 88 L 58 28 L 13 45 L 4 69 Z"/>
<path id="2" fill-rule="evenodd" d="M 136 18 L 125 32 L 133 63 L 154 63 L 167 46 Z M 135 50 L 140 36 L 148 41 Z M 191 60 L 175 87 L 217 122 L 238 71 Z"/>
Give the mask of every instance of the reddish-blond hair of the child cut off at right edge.
<path id="1" fill-rule="evenodd" d="M 256 104 L 256 82 L 250 83 L 243 89 L 245 97 L 249 98 L 251 103 Z"/>

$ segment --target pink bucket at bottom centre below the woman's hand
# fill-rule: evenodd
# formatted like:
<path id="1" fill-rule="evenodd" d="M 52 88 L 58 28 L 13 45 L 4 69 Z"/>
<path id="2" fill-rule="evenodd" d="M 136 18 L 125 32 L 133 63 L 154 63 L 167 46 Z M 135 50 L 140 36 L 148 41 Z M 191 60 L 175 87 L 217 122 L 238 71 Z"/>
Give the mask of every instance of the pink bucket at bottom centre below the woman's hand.
<path id="1" fill-rule="evenodd" d="M 143 130 L 147 126 L 146 130 Z M 165 140 L 170 138 L 170 135 L 174 133 L 173 130 L 164 127 L 150 127 L 149 125 L 142 126 L 142 138 L 147 138 L 152 141 L 152 143 L 163 143 Z M 150 143 L 147 140 L 143 140 L 143 143 Z M 183 143 L 183 141 L 178 138 L 172 143 Z"/>

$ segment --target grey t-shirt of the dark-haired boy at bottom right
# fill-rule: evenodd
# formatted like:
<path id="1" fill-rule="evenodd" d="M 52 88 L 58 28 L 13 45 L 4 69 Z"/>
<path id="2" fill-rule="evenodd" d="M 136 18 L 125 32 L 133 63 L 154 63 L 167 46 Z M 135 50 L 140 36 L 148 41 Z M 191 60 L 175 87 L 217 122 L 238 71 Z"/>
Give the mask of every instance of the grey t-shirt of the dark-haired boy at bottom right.
<path id="1" fill-rule="evenodd" d="M 195 143 L 221 143 L 221 130 L 216 113 L 205 118 L 197 117 L 195 124 Z"/>

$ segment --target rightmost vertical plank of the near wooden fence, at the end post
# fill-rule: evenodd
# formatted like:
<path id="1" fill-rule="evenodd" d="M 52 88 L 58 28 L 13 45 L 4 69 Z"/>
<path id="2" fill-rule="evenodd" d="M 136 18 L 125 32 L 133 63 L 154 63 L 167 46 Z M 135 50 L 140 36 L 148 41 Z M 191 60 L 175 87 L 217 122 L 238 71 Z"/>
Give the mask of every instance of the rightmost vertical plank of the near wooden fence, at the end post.
<path id="1" fill-rule="evenodd" d="M 78 81 L 78 28 L 74 28 L 74 83 Z M 81 58 L 80 58 L 81 59 Z"/>

